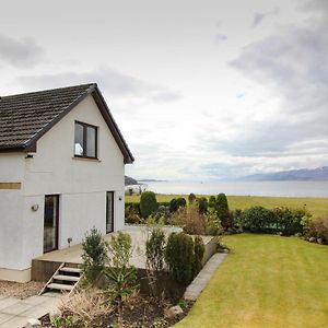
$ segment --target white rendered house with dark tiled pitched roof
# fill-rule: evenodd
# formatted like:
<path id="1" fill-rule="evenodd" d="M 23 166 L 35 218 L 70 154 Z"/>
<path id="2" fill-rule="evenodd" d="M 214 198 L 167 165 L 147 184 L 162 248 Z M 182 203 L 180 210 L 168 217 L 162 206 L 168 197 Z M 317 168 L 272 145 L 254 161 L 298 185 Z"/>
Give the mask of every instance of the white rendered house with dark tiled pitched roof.
<path id="1" fill-rule="evenodd" d="M 96 84 L 0 98 L 0 279 L 32 259 L 124 226 L 133 156 Z"/>

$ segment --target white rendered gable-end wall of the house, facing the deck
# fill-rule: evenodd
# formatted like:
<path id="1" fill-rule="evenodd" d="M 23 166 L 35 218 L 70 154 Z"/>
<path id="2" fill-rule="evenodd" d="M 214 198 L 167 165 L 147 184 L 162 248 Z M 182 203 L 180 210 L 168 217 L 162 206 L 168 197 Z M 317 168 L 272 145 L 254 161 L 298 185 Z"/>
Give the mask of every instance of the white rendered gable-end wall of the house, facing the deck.
<path id="1" fill-rule="evenodd" d="M 73 157 L 75 120 L 98 127 L 99 161 Z M 59 248 L 68 246 L 68 237 L 71 245 L 81 243 L 93 226 L 105 234 L 106 191 L 115 191 L 115 230 L 124 227 L 124 156 L 92 96 L 37 141 L 37 152 L 24 165 L 22 256 L 14 260 L 21 270 L 43 254 L 45 195 L 60 195 Z"/>

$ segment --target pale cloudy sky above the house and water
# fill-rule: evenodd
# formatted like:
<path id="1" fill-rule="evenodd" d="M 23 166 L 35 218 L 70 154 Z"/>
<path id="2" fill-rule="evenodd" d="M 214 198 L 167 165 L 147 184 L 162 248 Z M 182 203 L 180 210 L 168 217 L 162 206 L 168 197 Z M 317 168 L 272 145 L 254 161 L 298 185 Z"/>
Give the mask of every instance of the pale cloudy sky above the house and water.
<path id="1" fill-rule="evenodd" d="M 97 82 L 130 176 L 328 165 L 327 0 L 0 3 L 0 94 Z"/>

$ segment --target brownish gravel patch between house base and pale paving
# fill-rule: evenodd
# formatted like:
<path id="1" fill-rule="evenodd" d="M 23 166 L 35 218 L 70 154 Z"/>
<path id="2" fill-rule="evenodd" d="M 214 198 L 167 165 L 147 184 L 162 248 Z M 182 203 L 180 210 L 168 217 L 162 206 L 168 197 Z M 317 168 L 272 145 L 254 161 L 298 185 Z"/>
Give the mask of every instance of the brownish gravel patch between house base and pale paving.
<path id="1" fill-rule="evenodd" d="M 0 280 L 0 295 L 17 297 L 21 300 L 37 295 L 44 282 L 28 281 L 25 283 Z"/>

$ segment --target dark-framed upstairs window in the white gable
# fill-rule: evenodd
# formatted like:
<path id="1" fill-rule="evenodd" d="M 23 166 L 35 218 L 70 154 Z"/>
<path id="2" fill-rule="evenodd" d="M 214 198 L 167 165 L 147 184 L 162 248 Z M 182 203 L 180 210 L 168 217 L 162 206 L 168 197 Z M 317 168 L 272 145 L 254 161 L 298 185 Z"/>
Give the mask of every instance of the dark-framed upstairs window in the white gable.
<path id="1" fill-rule="evenodd" d="M 97 157 L 97 128 L 75 121 L 74 156 Z"/>

